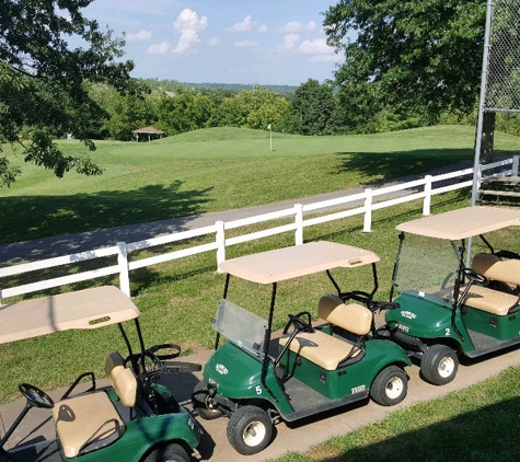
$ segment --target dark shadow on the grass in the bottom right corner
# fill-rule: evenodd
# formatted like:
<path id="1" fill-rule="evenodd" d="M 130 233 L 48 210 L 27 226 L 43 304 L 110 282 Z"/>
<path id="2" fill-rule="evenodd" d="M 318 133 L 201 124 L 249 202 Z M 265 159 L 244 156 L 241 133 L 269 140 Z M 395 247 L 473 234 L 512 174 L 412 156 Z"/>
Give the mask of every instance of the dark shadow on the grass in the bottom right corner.
<path id="1" fill-rule="evenodd" d="M 350 449 L 342 448 L 339 438 L 327 446 L 340 455 L 326 455 L 326 449 L 315 448 L 313 460 L 321 462 L 374 462 L 421 460 L 446 461 L 510 461 L 520 457 L 513 429 L 518 427 L 520 397 L 506 400 L 457 417 L 423 427 L 420 419 L 414 430 L 397 436 L 386 434 L 385 424 L 379 424 L 382 441 Z M 440 411 L 443 414 L 442 411 Z M 391 431 L 391 426 L 388 429 Z M 350 444 L 353 442 L 350 441 Z M 348 444 L 347 444 L 348 446 Z M 322 454 L 322 455 L 321 455 Z"/>

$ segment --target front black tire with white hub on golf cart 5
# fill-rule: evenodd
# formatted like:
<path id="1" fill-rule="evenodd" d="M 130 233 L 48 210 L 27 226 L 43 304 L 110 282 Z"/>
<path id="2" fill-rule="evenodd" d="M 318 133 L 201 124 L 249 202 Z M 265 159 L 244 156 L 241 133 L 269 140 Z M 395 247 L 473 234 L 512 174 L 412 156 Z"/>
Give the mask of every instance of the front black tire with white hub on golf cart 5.
<path id="1" fill-rule="evenodd" d="M 228 439 L 236 452 L 243 455 L 264 450 L 273 437 L 273 423 L 268 414 L 257 406 L 242 406 L 228 423 Z"/>

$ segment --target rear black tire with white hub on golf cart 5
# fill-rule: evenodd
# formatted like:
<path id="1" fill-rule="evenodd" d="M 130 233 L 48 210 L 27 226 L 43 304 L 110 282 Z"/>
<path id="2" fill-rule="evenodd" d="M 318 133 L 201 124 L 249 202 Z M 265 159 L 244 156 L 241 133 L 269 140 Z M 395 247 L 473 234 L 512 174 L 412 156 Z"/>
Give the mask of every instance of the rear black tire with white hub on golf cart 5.
<path id="1" fill-rule="evenodd" d="M 375 376 L 370 396 L 381 406 L 394 406 L 401 403 L 408 392 L 408 377 L 398 366 L 389 366 Z"/>

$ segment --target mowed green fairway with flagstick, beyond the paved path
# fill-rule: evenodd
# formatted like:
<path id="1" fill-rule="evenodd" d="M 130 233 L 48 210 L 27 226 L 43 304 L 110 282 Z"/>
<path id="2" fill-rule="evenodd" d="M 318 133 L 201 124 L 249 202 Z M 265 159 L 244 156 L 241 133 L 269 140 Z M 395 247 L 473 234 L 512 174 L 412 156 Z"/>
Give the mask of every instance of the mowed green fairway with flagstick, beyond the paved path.
<path id="1" fill-rule="evenodd" d="M 149 143 L 99 141 L 105 173 L 85 177 L 25 164 L 0 190 L 0 243 L 186 217 L 338 190 L 473 157 L 474 129 L 438 126 L 367 136 L 302 137 L 211 128 Z M 68 153 L 80 141 L 59 141 Z M 497 134 L 497 155 L 520 140 Z M 4 147 L 9 151 L 9 147 Z"/>

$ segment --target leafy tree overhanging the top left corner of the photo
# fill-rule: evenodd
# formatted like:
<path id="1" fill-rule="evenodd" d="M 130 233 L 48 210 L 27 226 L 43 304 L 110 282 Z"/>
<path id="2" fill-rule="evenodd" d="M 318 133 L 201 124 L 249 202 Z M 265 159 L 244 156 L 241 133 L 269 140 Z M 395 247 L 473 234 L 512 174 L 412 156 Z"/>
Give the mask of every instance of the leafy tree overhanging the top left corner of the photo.
<path id="1" fill-rule="evenodd" d="M 89 157 L 67 155 L 53 142 L 57 134 L 72 131 L 95 149 L 89 130 L 101 108 L 84 83 L 105 82 L 124 93 L 142 90 L 130 80 L 134 63 L 120 60 L 125 42 L 83 15 L 91 2 L 0 4 L 0 140 L 20 145 L 25 161 L 51 169 L 58 177 L 70 169 L 88 175 L 102 172 Z M 69 41 L 84 46 L 72 47 Z M 0 186 L 9 186 L 20 173 L 20 166 L 0 159 Z"/>

